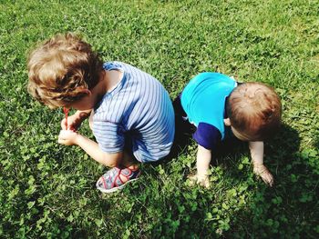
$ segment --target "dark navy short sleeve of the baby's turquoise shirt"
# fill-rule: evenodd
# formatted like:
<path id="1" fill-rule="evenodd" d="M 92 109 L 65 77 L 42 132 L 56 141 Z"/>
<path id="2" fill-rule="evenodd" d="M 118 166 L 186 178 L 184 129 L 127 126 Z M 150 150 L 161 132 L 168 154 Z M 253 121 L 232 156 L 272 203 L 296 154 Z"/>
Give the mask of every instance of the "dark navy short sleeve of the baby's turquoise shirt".
<path id="1" fill-rule="evenodd" d="M 200 123 L 192 136 L 198 144 L 210 150 L 215 150 L 216 144 L 221 140 L 220 131 L 215 126 L 206 123 Z"/>

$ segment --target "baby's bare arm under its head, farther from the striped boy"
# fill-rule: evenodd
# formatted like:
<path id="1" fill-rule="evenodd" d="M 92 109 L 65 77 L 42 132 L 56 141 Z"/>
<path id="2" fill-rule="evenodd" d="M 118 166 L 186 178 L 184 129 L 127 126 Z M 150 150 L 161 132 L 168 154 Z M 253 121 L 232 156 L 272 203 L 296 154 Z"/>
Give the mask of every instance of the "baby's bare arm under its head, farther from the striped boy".
<path id="1" fill-rule="evenodd" d="M 249 142 L 251 150 L 253 173 L 259 175 L 263 182 L 273 186 L 273 175 L 263 165 L 263 142 L 254 141 Z"/>

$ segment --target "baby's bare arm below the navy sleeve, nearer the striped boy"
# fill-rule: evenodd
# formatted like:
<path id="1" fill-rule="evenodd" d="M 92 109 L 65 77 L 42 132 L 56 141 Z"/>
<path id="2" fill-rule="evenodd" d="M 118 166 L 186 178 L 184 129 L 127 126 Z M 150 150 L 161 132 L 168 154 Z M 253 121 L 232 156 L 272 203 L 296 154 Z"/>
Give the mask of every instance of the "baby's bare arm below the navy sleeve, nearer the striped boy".
<path id="1" fill-rule="evenodd" d="M 208 150 L 199 144 L 197 151 L 197 174 L 190 179 L 205 187 L 210 186 L 209 168 L 211 163 L 211 150 Z"/>

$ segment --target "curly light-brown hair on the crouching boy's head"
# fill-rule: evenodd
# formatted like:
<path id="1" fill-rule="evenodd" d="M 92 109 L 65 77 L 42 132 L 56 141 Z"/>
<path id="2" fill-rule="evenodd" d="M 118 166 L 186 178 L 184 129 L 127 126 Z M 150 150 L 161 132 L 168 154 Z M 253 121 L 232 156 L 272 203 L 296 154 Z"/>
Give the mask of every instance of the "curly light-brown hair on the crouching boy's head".
<path id="1" fill-rule="evenodd" d="M 55 35 L 28 57 L 28 91 L 50 108 L 67 106 L 98 84 L 102 62 L 77 35 Z"/>

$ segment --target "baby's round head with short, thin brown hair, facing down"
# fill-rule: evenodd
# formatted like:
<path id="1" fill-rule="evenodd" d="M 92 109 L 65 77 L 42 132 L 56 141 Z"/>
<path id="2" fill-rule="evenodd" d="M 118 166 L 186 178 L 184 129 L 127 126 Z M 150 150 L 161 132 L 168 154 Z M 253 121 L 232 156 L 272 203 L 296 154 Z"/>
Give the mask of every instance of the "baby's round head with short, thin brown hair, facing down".
<path id="1" fill-rule="evenodd" d="M 281 124 L 281 111 L 278 95 L 261 83 L 237 86 L 227 102 L 233 133 L 248 141 L 263 140 L 275 133 Z"/>

